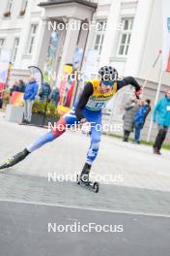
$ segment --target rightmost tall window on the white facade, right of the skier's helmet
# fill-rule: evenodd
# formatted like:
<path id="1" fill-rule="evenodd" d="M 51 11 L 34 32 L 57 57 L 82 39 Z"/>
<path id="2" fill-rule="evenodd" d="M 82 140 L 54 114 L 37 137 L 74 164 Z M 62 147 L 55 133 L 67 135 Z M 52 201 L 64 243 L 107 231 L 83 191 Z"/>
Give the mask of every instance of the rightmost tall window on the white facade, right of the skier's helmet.
<path id="1" fill-rule="evenodd" d="M 123 30 L 120 35 L 118 55 L 127 56 L 133 26 L 133 18 L 122 18 L 121 23 L 123 24 Z"/>

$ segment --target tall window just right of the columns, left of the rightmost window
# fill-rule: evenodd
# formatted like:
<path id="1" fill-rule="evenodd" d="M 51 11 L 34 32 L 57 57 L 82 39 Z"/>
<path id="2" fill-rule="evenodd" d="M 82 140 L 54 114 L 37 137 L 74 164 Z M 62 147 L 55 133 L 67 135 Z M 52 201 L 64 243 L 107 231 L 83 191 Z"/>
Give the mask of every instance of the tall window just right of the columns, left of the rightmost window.
<path id="1" fill-rule="evenodd" d="M 94 50 L 99 51 L 99 54 L 102 49 L 105 28 L 106 28 L 106 20 L 99 20 L 99 21 L 97 20 Z"/>

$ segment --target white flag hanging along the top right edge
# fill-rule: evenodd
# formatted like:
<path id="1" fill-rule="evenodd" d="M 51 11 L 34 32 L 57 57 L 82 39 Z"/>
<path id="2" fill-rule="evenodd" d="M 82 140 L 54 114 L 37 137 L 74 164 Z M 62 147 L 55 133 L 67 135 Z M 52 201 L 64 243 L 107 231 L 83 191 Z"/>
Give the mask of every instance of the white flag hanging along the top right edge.
<path id="1" fill-rule="evenodd" d="M 170 0 L 162 0 L 163 71 L 170 72 Z"/>

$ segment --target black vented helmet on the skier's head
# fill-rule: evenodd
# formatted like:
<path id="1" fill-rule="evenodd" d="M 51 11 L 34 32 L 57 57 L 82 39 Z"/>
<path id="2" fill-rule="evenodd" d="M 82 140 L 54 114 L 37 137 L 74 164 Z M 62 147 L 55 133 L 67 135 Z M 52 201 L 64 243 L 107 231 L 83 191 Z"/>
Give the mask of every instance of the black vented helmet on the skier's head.
<path id="1" fill-rule="evenodd" d="M 100 80 L 117 80 L 118 72 L 111 66 L 103 66 L 99 69 Z"/>

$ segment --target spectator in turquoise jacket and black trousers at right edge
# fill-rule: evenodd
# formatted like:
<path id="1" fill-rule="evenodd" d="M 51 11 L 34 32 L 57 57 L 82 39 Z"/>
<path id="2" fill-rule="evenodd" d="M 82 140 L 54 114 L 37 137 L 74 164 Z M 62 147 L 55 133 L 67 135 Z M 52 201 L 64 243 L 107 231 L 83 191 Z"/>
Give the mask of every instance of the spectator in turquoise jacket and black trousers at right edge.
<path id="1" fill-rule="evenodd" d="M 153 121 L 158 125 L 158 134 L 154 144 L 154 153 L 160 155 L 161 146 L 170 127 L 170 90 L 157 104 L 153 113 Z"/>

